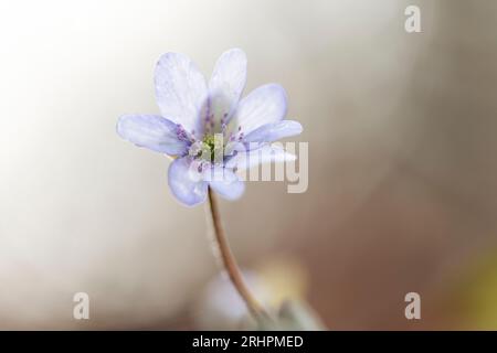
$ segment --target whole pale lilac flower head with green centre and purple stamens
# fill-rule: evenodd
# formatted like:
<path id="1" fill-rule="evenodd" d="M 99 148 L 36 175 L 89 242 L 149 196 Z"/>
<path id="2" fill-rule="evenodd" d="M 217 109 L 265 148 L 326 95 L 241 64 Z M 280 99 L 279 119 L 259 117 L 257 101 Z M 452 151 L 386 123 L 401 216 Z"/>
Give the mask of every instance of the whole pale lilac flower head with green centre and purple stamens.
<path id="1" fill-rule="evenodd" d="M 235 200 L 245 188 L 237 170 L 295 159 L 271 145 L 303 130 L 284 119 L 285 89 L 267 84 L 240 99 L 245 81 L 246 56 L 240 49 L 221 55 L 209 84 L 188 56 L 166 53 L 155 69 L 161 115 L 125 115 L 117 122 L 121 138 L 173 158 L 169 186 L 184 205 L 204 202 L 209 186 Z"/>

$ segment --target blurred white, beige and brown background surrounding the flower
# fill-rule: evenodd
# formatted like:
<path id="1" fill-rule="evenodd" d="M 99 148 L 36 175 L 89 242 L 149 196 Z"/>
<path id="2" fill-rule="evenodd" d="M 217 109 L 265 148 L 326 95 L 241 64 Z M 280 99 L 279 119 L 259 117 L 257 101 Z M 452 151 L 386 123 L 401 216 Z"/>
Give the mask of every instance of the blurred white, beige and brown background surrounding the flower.
<path id="1" fill-rule="evenodd" d="M 331 330 L 497 329 L 496 32 L 491 0 L 1 1 L 0 329 L 236 328 L 203 207 L 115 132 L 159 111 L 160 54 L 209 77 L 234 46 L 245 94 L 281 83 L 309 142 L 306 193 L 221 203 L 260 298 Z"/>

